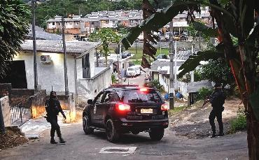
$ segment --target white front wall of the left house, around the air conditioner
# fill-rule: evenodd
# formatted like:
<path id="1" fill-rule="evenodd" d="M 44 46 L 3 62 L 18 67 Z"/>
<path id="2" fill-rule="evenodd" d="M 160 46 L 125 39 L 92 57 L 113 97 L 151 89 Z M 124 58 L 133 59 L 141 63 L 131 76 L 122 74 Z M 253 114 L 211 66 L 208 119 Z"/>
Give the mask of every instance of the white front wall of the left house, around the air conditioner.
<path id="1" fill-rule="evenodd" d="M 52 62 L 50 64 L 43 64 L 40 61 L 41 55 L 50 55 Z M 18 54 L 13 59 L 25 60 L 25 71 L 27 78 L 27 88 L 34 89 L 34 61 L 33 53 L 27 52 Z M 63 54 L 57 53 L 43 53 L 37 52 L 37 72 L 38 72 L 38 85 L 41 89 L 46 89 L 47 93 L 51 91 L 51 85 L 56 92 L 64 92 L 64 61 Z M 67 54 L 67 75 L 69 82 L 69 92 L 75 92 L 74 80 L 74 58 Z"/>

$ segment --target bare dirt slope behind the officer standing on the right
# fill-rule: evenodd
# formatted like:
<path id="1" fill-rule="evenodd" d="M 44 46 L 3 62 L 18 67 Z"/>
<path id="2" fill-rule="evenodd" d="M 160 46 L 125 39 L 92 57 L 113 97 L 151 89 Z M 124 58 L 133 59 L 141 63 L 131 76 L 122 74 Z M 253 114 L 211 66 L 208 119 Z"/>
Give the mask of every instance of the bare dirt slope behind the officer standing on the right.
<path id="1" fill-rule="evenodd" d="M 195 103 L 190 108 L 186 108 L 181 112 L 171 115 L 171 130 L 176 131 L 176 136 L 186 136 L 187 138 L 199 139 L 206 138 L 211 135 L 211 126 L 209 124 L 209 113 L 211 112 L 211 104 L 202 107 L 203 101 Z M 225 101 L 223 111 L 224 133 L 228 134 L 230 130 L 230 121 L 237 117 L 237 110 L 244 108 L 241 99 L 230 98 Z M 240 105 L 239 105 L 240 104 Z M 215 119 L 216 130 L 218 131 L 218 122 Z"/>

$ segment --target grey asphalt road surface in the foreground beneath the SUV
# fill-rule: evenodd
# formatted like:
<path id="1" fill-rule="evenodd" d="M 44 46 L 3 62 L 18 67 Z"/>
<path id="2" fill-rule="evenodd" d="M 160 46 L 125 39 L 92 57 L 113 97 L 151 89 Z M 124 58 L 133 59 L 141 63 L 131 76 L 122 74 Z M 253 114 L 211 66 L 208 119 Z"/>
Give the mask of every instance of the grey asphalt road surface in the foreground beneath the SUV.
<path id="1" fill-rule="evenodd" d="M 167 129 L 164 138 L 153 142 L 148 133 L 123 135 L 109 143 L 105 133 L 85 135 L 81 123 L 62 127 L 66 145 L 51 145 L 49 129 L 37 140 L 0 152 L 0 159 L 247 159 L 246 133 L 221 138 L 187 139 Z M 99 153 L 103 147 L 137 147 L 133 154 Z"/>

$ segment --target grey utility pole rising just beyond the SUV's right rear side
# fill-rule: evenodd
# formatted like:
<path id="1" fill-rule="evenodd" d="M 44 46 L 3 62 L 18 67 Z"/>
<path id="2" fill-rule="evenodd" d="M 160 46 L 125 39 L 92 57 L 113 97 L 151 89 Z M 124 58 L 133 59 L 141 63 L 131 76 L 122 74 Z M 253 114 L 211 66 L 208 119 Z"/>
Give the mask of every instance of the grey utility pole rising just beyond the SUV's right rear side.
<path id="1" fill-rule="evenodd" d="M 170 76 L 169 76 L 169 109 L 174 109 L 174 53 L 173 53 L 173 20 L 170 22 L 169 34 L 169 55 L 170 55 Z"/>

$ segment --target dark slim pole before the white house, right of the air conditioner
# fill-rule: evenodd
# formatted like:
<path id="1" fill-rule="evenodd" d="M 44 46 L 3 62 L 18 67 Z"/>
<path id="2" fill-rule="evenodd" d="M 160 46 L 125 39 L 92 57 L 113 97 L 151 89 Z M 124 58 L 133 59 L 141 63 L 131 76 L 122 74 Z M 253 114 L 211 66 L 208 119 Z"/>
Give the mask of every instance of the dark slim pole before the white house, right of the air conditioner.
<path id="1" fill-rule="evenodd" d="M 67 64 L 66 64 L 66 37 L 64 35 L 64 16 L 62 16 L 62 40 L 63 40 L 63 54 L 64 54 L 64 82 L 65 82 L 65 95 L 69 95 L 69 87 L 68 87 L 68 80 L 67 80 Z"/>

